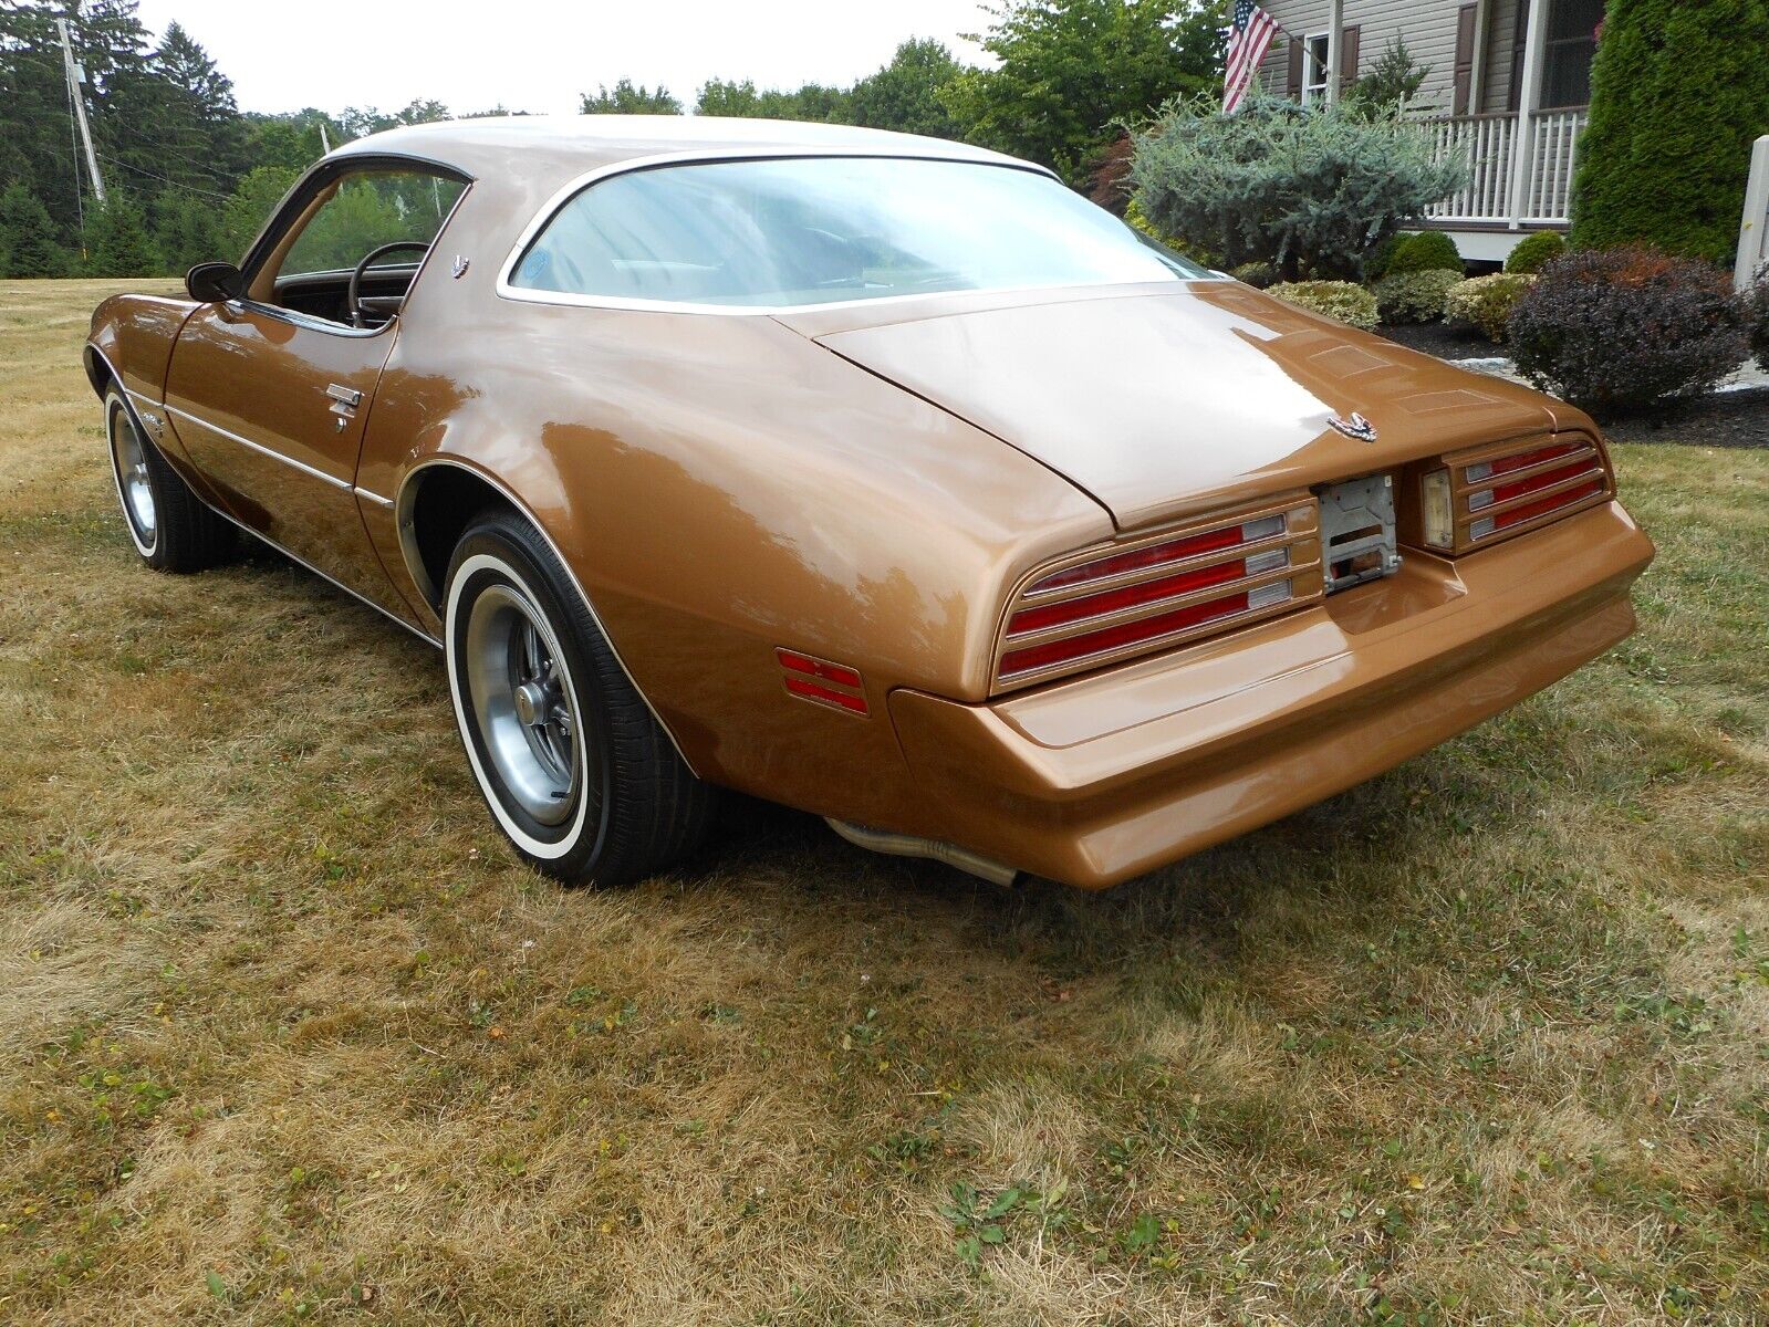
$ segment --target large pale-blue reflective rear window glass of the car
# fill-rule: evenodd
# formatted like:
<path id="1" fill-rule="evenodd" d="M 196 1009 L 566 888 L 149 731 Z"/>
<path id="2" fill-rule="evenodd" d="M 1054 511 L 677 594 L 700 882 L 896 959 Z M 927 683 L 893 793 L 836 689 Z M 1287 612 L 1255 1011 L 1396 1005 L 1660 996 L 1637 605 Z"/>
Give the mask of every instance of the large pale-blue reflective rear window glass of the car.
<path id="1" fill-rule="evenodd" d="M 1030 170 L 791 157 L 660 166 L 600 180 L 559 209 L 509 283 L 571 295 L 780 308 L 1208 274 Z"/>

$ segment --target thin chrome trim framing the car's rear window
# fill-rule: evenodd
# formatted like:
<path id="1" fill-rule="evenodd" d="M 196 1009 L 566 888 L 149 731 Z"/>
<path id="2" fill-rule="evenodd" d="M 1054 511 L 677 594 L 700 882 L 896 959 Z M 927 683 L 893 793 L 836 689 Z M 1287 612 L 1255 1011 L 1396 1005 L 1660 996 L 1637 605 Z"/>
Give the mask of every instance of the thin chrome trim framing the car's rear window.
<path id="1" fill-rule="evenodd" d="M 831 299 L 821 304 L 697 304 L 692 301 L 679 299 L 635 299 L 632 295 L 578 295 L 564 290 L 534 290 L 529 287 L 520 287 L 511 283 L 515 276 L 517 264 L 522 262 L 522 255 L 527 253 L 529 246 L 540 237 L 540 234 L 552 225 L 552 219 L 559 214 L 568 202 L 577 198 L 584 189 L 593 184 L 610 179 L 614 175 L 630 175 L 639 170 L 656 170 L 660 166 L 695 166 L 695 165 L 716 165 L 720 161 L 817 161 L 817 159 L 879 159 L 879 161 L 939 161 L 962 166 L 996 166 L 998 170 L 1022 170 L 1028 175 L 1044 175 L 1049 180 L 1061 184 L 1061 179 L 1053 170 L 1033 165 L 1030 161 L 1015 161 L 1014 157 L 980 157 L 969 154 L 941 154 L 941 152 L 906 152 L 900 147 L 874 147 L 874 149 L 697 149 L 686 152 L 656 152 L 653 156 L 630 157 L 626 161 L 616 161 L 607 166 L 596 166 L 594 170 L 586 170 L 582 175 L 570 180 L 564 188 L 557 189 L 552 198 L 541 203 L 540 211 L 529 219 L 522 228 L 522 235 L 517 237 L 515 248 L 509 249 L 508 257 L 497 269 L 497 297 L 508 299 L 517 304 L 557 304 L 568 308 L 601 308 L 601 310 L 633 310 L 644 313 L 709 313 L 715 317 L 782 317 L 793 313 L 819 313 L 824 310 L 844 310 L 844 308 L 890 308 L 911 299 L 927 299 L 930 292 L 913 292 L 906 295 L 879 295 L 876 299 Z M 1182 276 L 1175 272 L 1175 285 L 1185 285 L 1187 281 L 1206 281 L 1208 276 Z M 416 283 L 414 283 L 416 285 Z M 1056 281 L 1053 285 L 1033 285 L 1033 287 L 980 287 L 976 290 L 959 290 L 952 294 L 985 294 L 985 295 L 1012 295 L 1037 290 L 1086 290 L 1091 287 L 1109 288 L 1113 285 L 1123 285 L 1116 281 Z M 1136 283 L 1130 283 L 1136 285 Z M 943 294 L 943 292 L 941 292 Z"/>

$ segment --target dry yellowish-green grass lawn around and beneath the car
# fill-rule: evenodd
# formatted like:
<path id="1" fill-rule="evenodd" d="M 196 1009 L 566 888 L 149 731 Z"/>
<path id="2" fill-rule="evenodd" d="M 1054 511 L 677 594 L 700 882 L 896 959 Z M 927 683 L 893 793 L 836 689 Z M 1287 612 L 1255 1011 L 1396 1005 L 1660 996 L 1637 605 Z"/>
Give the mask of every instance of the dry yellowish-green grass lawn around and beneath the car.
<path id="1" fill-rule="evenodd" d="M 0 1320 L 1769 1316 L 1769 451 L 1622 448 L 1633 640 L 1113 894 L 755 803 L 564 892 L 428 648 L 138 564 L 110 288 L 0 283 Z"/>

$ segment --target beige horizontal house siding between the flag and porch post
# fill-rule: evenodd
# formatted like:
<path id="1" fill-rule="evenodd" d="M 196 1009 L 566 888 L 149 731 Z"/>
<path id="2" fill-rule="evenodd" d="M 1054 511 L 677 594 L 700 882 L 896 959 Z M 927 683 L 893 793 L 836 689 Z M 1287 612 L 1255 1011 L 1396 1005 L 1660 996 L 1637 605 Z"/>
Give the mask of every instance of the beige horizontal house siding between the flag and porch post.
<path id="1" fill-rule="evenodd" d="M 1359 73 L 1369 73 L 1382 51 L 1399 37 L 1406 42 L 1413 62 L 1429 69 L 1415 108 L 1449 115 L 1456 81 L 1456 14 L 1463 0 L 1344 0 L 1346 27 L 1360 28 Z M 1523 0 L 1497 0 L 1491 5 L 1482 110 L 1505 108 L 1511 87 L 1511 30 L 1520 4 Z M 1325 32 L 1332 12 L 1327 0 L 1265 0 L 1265 11 L 1297 37 Z M 1265 88 L 1274 96 L 1284 96 L 1288 67 L 1288 41 L 1279 37 L 1260 65 Z"/>

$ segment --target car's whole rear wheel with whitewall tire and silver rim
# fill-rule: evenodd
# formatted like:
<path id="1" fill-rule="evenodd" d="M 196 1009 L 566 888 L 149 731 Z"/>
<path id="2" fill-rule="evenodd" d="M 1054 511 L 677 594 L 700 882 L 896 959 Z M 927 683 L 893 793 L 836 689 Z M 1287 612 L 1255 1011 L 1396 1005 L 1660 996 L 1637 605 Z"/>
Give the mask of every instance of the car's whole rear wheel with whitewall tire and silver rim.
<path id="1" fill-rule="evenodd" d="M 444 648 L 462 745 L 499 826 L 571 885 L 624 885 L 704 839 L 695 779 L 547 541 L 474 520 L 448 573 Z"/>

